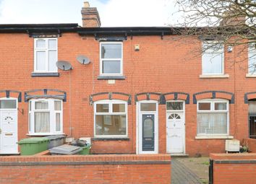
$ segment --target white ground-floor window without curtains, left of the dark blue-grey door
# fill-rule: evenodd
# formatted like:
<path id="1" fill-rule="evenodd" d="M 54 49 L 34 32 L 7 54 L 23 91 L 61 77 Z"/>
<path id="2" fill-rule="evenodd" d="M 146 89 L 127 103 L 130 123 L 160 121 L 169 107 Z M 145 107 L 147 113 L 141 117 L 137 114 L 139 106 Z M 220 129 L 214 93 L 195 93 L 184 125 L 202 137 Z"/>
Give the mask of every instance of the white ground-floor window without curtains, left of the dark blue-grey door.
<path id="1" fill-rule="evenodd" d="M 95 137 L 127 137 L 127 102 L 99 100 L 94 103 Z"/>

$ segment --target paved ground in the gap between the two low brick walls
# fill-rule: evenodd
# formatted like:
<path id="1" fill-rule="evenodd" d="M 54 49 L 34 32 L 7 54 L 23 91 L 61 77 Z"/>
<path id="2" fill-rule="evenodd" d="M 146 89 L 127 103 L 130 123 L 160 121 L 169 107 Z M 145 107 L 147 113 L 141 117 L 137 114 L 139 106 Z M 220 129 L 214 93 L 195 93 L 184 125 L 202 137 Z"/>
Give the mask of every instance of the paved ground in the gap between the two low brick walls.
<path id="1" fill-rule="evenodd" d="M 207 184 L 209 157 L 172 157 L 171 184 Z"/>

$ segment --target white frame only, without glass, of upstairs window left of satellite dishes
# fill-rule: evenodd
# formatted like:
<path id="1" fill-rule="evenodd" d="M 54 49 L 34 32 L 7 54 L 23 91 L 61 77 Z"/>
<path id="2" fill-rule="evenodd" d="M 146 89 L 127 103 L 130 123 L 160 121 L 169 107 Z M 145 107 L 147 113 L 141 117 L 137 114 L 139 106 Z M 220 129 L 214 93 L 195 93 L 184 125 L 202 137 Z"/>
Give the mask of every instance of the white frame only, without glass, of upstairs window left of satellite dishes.
<path id="1" fill-rule="evenodd" d="M 46 48 L 37 48 L 36 47 L 36 41 L 37 40 L 46 40 Z M 56 40 L 56 49 L 49 49 L 48 43 L 49 40 Z M 36 69 L 36 52 L 37 51 L 45 51 L 46 52 L 46 70 L 37 70 Z M 56 68 L 53 71 L 49 70 L 49 51 L 56 51 L 56 61 L 58 61 L 58 38 L 34 38 L 34 71 L 35 73 L 51 73 L 51 72 L 58 72 L 58 68 Z"/>

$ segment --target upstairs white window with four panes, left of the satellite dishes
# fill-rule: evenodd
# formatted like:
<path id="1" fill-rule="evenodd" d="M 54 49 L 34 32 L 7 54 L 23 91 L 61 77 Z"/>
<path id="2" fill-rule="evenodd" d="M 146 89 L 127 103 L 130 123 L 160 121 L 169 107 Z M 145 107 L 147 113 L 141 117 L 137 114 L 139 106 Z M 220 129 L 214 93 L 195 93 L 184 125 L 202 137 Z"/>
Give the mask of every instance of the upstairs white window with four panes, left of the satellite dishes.
<path id="1" fill-rule="evenodd" d="M 57 72 L 57 38 L 34 39 L 34 72 Z"/>

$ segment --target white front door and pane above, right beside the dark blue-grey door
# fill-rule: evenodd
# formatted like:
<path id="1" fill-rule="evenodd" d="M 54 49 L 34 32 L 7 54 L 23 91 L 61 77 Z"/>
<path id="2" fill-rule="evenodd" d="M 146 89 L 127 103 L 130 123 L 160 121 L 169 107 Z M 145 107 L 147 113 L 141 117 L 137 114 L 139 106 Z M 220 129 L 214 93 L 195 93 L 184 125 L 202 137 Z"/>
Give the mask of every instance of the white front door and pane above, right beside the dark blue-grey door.
<path id="1" fill-rule="evenodd" d="M 166 151 L 171 154 L 184 154 L 184 102 L 173 101 L 166 104 Z"/>

